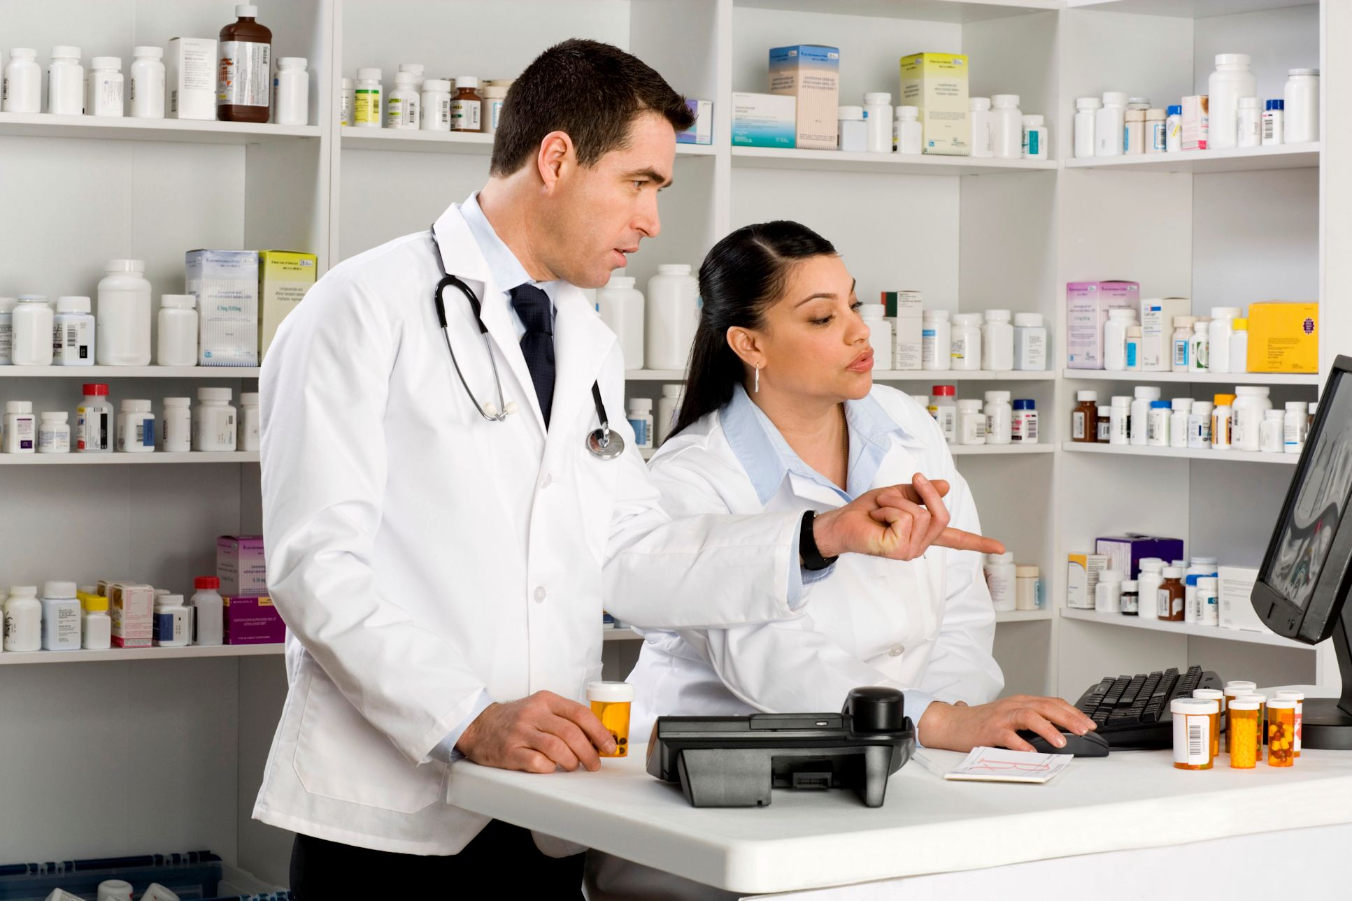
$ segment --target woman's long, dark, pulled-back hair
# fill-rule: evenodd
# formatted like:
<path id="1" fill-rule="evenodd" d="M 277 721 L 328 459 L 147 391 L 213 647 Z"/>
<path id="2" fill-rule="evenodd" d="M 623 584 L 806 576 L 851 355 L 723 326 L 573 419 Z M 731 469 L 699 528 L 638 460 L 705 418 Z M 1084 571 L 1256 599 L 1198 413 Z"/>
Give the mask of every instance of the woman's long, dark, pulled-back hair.
<path id="1" fill-rule="evenodd" d="M 723 407 L 746 378 L 741 358 L 727 346 L 727 330 L 761 328 L 794 266 L 834 255 L 831 242 L 807 226 L 784 220 L 745 226 L 714 244 L 699 267 L 703 309 L 672 435 Z"/>

